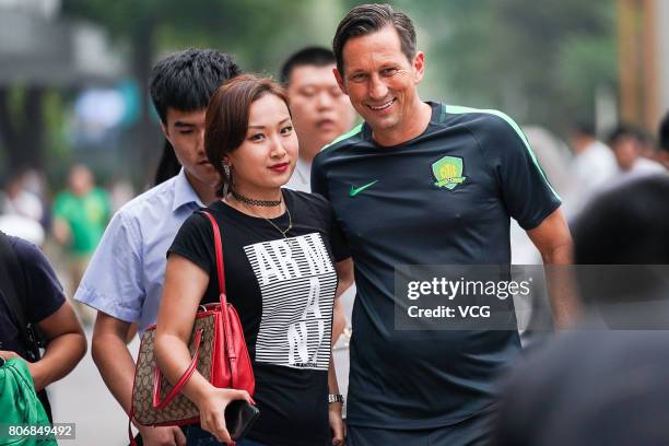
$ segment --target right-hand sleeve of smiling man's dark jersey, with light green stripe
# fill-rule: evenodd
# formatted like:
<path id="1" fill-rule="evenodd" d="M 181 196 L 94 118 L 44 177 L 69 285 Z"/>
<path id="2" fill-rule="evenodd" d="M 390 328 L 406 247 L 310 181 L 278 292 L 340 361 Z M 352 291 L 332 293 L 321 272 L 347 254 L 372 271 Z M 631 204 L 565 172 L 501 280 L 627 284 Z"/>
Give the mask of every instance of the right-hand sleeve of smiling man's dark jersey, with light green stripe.
<path id="1" fill-rule="evenodd" d="M 494 171 L 508 213 L 529 231 L 537 227 L 561 204 L 527 138 L 508 116 L 497 113 L 477 134 Z"/>

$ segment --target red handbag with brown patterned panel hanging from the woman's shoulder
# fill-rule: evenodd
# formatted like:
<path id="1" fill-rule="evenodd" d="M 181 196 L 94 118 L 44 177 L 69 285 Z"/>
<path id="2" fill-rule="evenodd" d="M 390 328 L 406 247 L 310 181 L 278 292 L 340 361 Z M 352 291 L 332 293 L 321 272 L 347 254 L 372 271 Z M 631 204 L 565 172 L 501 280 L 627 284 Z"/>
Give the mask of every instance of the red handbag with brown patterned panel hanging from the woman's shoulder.
<path id="1" fill-rule="evenodd" d="M 216 255 L 220 303 L 202 305 L 196 314 L 189 350 L 192 361 L 178 383 L 172 386 L 162 375 L 153 354 L 155 325 L 142 336 L 132 385 L 132 402 L 128 421 L 130 444 L 136 445 L 130 422 L 141 425 L 167 426 L 198 423 L 197 406 L 180 394 L 197 369 L 214 387 L 246 390 L 254 395 L 256 380 L 244 330 L 235 307 L 227 302 L 223 268 L 221 232 L 213 215 L 199 211 L 211 222 Z"/>

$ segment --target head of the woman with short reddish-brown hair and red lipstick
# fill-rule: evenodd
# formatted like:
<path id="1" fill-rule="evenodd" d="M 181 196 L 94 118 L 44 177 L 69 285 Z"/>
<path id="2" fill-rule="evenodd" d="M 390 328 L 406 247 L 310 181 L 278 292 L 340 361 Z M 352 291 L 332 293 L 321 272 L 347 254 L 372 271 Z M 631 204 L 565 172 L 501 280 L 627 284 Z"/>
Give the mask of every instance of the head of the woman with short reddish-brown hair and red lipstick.
<path id="1" fill-rule="evenodd" d="M 280 187 L 287 183 L 297 159 L 287 104 L 278 84 L 249 74 L 226 83 L 212 96 L 204 146 L 221 175 L 220 197 L 227 187 L 235 196 L 279 201 Z"/>

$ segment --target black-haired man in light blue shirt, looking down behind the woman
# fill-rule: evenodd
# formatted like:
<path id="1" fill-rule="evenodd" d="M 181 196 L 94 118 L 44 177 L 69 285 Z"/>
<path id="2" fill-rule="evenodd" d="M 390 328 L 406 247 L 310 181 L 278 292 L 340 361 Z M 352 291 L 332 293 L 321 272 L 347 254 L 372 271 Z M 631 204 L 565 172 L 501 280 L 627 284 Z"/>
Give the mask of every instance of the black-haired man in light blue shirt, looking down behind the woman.
<path id="1" fill-rule="evenodd" d="M 215 199 L 219 176 L 204 152 L 204 114 L 219 85 L 237 73 L 231 57 L 213 49 L 187 49 L 155 64 L 151 99 L 183 168 L 114 215 L 74 296 L 97 309 L 93 361 L 126 413 L 130 413 L 134 379 L 127 340 L 133 325 L 143 332 L 156 321 L 167 248 L 179 226 Z M 186 441 L 175 426 L 138 427 L 140 444 L 183 445 Z"/>

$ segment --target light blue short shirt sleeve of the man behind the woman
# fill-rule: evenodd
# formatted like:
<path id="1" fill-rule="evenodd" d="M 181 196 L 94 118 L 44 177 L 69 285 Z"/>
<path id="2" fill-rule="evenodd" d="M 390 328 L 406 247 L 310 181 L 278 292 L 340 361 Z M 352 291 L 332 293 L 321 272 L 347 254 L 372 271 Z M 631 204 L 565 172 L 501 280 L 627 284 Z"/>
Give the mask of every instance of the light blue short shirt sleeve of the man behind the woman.
<path id="1" fill-rule="evenodd" d="M 145 297 L 134 224 L 121 212 L 114 215 L 74 294 L 75 301 L 127 322 L 139 320 Z"/>

